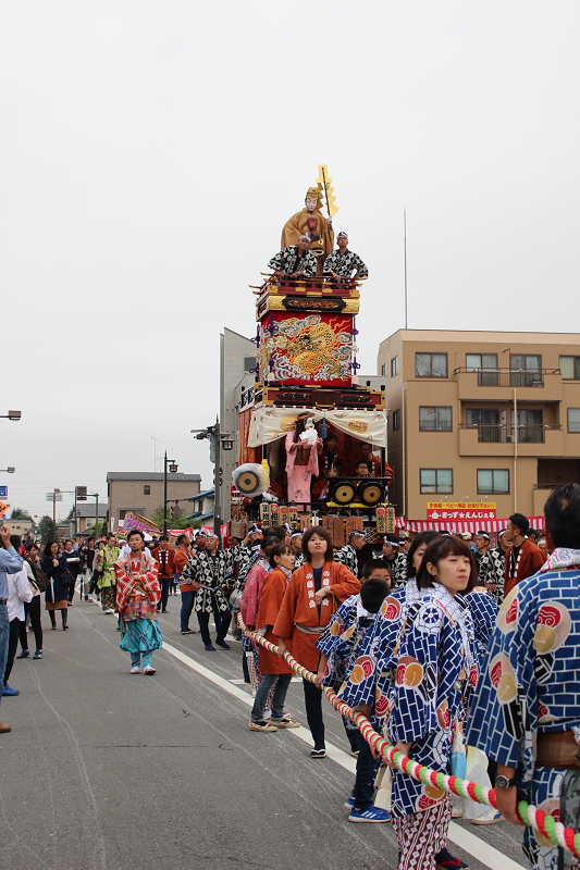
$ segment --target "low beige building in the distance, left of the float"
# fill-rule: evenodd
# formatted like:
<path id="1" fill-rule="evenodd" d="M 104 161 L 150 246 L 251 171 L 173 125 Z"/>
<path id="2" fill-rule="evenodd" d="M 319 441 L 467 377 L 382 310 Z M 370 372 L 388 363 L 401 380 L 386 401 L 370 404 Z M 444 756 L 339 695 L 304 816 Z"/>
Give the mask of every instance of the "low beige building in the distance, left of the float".
<path id="1" fill-rule="evenodd" d="M 188 510 L 184 499 L 196 496 L 200 483 L 199 474 L 168 473 L 168 501 L 181 500 L 182 510 Z M 123 522 L 128 511 L 152 520 L 163 507 L 163 474 L 158 472 L 109 471 L 107 489 L 109 529 L 112 530 Z"/>

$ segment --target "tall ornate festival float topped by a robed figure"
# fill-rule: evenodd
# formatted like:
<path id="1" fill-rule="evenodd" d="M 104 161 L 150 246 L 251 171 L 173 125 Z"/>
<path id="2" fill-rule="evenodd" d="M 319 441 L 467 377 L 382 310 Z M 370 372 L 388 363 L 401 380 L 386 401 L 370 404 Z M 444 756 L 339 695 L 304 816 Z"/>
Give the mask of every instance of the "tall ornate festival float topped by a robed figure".
<path id="1" fill-rule="evenodd" d="M 365 281 L 359 272 L 367 270 L 348 249 L 338 262 L 363 269 L 344 274 L 343 268 L 341 275 L 324 269 L 337 210 L 332 179 L 321 165 L 305 208 L 283 227 L 282 250 L 270 261 L 273 271 L 250 285 L 256 385 L 252 402 L 240 411 L 230 529 L 235 537 L 256 521 L 296 530 L 320 524 L 336 547 L 355 530 L 366 530 L 370 543 L 395 531 L 385 390 L 360 386 L 357 375 L 356 316 Z M 338 233 L 343 247 L 344 237 Z M 314 258 L 308 258 L 309 269 L 303 270 L 300 251 Z"/>

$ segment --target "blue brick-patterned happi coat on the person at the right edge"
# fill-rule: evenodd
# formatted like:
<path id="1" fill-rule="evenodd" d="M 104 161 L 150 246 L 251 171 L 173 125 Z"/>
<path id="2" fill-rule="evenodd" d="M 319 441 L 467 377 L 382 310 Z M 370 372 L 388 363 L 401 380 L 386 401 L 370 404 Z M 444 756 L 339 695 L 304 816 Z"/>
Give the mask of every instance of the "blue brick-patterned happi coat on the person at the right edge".
<path id="1" fill-rule="evenodd" d="M 558 820 L 566 771 L 535 768 L 538 734 L 557 731 L 580 742 L 580 550 L 559 548 L 499 608 L 467 742 L 516 768 L 519 797 Z M 523 853 L 532 868 L 558 868 L 558 849 L 531 828 Z"/>

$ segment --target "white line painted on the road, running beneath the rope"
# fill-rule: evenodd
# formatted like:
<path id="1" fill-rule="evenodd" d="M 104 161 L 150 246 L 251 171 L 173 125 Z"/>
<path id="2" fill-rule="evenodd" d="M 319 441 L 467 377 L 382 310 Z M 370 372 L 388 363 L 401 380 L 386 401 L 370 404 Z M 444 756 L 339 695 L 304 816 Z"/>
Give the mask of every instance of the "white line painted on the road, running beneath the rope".
<path id="1" fill-rule="evenodd" d="M 220 686 L 220 688 L 225 689 L 230 695 L 233 695 L 235 698 L 238 698 L 243 704 L 247 707 L 254 706 L 254 698 L 251 695 L 248 695 L 247 692 L 244 692 L 240 688 L 237 688 L 237 685 L 243 685 L 243 680 L 225 680 L 223 676 L 219 676 L 213 671 L 210 671 L 209 668 L 203 667 L 195 659 L 189 658 L 181 649 L 177 649 L 171 644 L 165 643 L 163 641 L 163 647 L 166 652 L 171 656 L 174 656 L 181 662 L 186 664 L 193 671 L 197 671 L 197 673 L 205 676 L 207 680 L 211 680 L 211 682 Z M 295 678 L 297 682 L 301 682 L 299 678 Z M 291 734 L 294 734 L 296 737 L 299 737 L 304 743 L 312 744 L 312 735 L 310 731 L 306 728 L 293 728 L 288 729 Z M 329 758 L 332 758 L 333 761 L 336 761 L 345 770 L 348 770 L 350 773 L 356 773 L 357 762 L 354 758 L 348 756 L 337 746 L 333 746 L 331 743 L 326 743 L 326 755 Z M 513 861 L 511 858 L 507 858 L 497 849 L 494 849 L 493 846 L 490 846 L 483 840 L 480 840 L 479 836 L 476 834 L 471 834 L 469 831 L 466 831 L 461 825 L 452 822 L 449 824 L 449 833 L 448 840 L 452 843 L 455 843 L 456 846 L 459 846 L 464 852 L 467 852 L 469 855 L 472 855 L 473 858 L 477 858 L 478 861 L 489 867 L 490 870 L 522 870 L 522 865 L 516 863 Z"/>

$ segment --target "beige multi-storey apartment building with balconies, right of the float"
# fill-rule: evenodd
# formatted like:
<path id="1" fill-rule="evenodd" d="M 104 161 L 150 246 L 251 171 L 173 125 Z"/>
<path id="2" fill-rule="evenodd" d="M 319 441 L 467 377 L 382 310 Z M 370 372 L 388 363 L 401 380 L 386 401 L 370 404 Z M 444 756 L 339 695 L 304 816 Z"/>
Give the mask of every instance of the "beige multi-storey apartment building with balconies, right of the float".
<path id="1" fill-rule="evenodd" d="M 379 348 L 397 515 L 429 502 L 538 517 L 580 483 L 580 334 L 399 330 Z"/>

